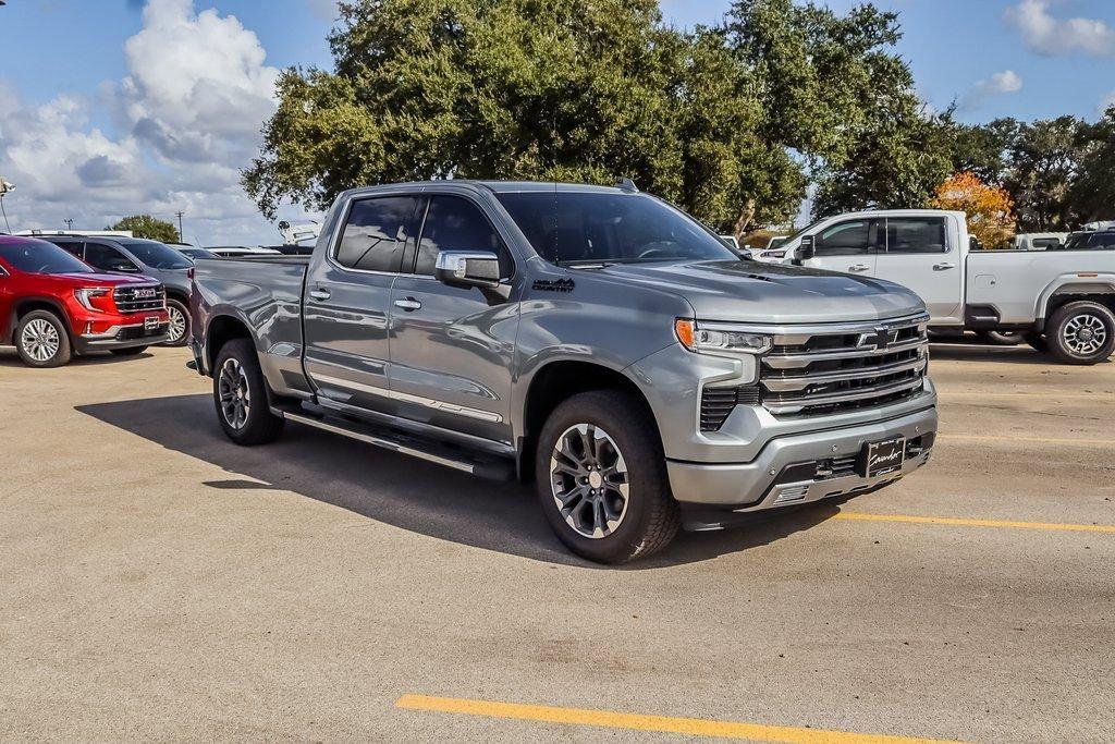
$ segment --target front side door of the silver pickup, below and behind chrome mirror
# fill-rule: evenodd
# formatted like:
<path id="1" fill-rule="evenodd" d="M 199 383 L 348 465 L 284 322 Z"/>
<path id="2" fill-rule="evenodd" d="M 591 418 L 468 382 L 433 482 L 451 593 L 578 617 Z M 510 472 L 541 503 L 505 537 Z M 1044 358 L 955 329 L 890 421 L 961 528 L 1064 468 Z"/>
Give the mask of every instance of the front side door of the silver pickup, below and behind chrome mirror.
<path id="1" fill-rule="evenodd" d="M 391 289 L 391 397 L 399 414 L 495 442 L 511 442 L 514 302 L 489 305 L 477 289 L 434 278 L 439 251 L 491 251 L 510 278 L 515 263 L 493 222 L 464 196 L 428 200 L 413 273 Z M 514 299 L 514 298 L 512 298 Z"/>

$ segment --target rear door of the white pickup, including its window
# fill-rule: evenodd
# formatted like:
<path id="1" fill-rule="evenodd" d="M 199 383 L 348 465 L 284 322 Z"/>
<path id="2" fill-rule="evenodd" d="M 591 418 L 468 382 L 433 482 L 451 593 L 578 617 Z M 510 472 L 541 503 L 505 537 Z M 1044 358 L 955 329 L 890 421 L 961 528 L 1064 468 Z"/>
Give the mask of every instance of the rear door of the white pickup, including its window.
<path id="1" fill-rule="evenodd" d="M 929 308 L 933 325 L 963 321 L 963 259 L 949 240 L 944 216 L 886 218 L 885 248 L 875 276 L 909 287 Z"/>

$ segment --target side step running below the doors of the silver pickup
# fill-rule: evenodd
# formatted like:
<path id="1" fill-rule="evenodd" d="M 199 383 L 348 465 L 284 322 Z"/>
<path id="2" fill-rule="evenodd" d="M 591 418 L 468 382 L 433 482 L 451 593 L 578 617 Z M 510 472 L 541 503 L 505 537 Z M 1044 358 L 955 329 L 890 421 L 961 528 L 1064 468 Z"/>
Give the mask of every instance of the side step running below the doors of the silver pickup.
<path id="1" fill-rule="evenodd" d="M 287 421 L 359 439 L 360 442 L 403 455 L 419 457 L 477 477 L 491 479 L 493 481 L 512 481 L 515 479 L 515 463 L 506 457 L 454 447 L 433 439 L 404 434 L 362 422 L 358 423 L 337 416 L 317 416 L 306 409 L 292 410 L 285 407 L 272 407 L 272 412 Z"/>

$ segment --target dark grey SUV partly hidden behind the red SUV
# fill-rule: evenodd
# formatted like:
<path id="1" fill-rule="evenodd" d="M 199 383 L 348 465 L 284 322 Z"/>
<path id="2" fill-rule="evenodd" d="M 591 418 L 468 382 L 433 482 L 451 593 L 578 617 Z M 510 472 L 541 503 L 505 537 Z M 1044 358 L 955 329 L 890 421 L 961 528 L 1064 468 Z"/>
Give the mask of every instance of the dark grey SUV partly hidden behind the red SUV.
<path id="1" fill-rule="evenodd" d="M 145 274 L 166 288 L 171 328 L 165 346 L 185 346 L 190 331 L 190 278 L 193 265 L 182 253 L 154 240 L 91 235 L 42 235 L 89 265 L 112 273 Z"/>

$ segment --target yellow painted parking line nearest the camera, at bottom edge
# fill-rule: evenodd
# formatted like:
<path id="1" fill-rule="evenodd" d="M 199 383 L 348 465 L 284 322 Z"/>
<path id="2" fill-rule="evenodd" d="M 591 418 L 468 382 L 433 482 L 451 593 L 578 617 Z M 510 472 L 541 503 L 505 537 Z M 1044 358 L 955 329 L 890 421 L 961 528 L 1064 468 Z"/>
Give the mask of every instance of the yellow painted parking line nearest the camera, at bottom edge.
<path id="1" fill-rule="evenodd" d="M 559 708 L 547 705 L 522 705 L 475 700 L 460 697 L 429 697 L 427 695 L 404 695 L 395 702 L 395 707 L 409 711 L 433 711 L 458 713 L 488 718 L 514 718 L 539 721 L 565 725 L 599 726 L 602 728 L 624 728 L 628 731 L 653 731 L 686 736 L 718 736 L 720 738 L 745 738 L 758 742 L 789 742 L 792 744 L 910 744 L 912 742 L 939 742 L 940 740 L 909 738 L 880 734 L 853 734 L 818 728 L 766 726 L 708 718 L 671 718 L 638 713 L 613 711 L 589 711 L 584 708 Z"/>

